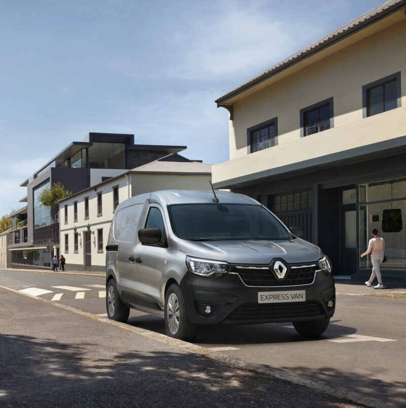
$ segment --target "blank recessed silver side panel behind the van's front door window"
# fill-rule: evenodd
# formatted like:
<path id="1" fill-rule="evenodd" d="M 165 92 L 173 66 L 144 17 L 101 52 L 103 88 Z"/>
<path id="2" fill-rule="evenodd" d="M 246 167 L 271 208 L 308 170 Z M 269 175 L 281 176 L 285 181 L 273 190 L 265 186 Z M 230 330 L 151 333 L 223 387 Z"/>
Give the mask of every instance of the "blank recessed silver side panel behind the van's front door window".
<path id="1" fill-rule="evenodd" d="M 124 207 L 117 212 L 113 228 L 116 241 L 134 242 L 143 208 L 144 204 L 140 203 Z"/>

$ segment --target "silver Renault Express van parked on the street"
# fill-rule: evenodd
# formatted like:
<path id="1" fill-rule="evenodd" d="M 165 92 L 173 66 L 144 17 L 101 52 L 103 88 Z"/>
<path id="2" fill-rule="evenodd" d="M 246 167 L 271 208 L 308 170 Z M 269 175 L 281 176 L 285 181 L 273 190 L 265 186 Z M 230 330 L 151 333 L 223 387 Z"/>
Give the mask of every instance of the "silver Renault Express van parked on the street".
<path id="1" fill-rule="evenodd" d="M 217 191 L 142 194 L 116 209 L 106 246 L 109 319 L 130 308 L 191 341 L 199 325 L 292 322 L 319 336 L 335 308 L 331 263 L 250 197 Z"/>

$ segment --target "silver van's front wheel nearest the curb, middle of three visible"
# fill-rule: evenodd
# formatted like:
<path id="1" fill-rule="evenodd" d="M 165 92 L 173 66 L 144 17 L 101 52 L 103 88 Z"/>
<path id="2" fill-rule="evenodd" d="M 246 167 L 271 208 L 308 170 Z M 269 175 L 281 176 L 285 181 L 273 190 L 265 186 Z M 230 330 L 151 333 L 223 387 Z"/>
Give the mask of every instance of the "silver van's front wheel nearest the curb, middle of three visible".
<path id="1" fill-rule="evenodd" d="M 182 291 L 176 284 L 166 291 L 165 327 L 168 336 L 180 340 L 193 341 L 197 336 L 198 326 L 190 322 Z"/>

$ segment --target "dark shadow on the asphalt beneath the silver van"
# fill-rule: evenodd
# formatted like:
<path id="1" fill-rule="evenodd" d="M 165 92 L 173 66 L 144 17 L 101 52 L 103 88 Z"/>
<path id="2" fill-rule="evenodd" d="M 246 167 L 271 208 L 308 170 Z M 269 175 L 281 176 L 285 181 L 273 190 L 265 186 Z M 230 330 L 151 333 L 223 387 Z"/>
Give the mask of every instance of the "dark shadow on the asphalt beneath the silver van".
<path id="1" fill-rule="evenodd" d="M 301 337 L 292 323 L 268 323 L 256 325 L 201 325 L 197 335 L 196 344 L 272 344 L 291 343 L 304 341 L 327 340 L 342 338 L 349 334 L 354 334 L 357 329 L 354 327 L 342 326 L 340 320 L 330 321 L 327 330 L 317 339 L 307 339 Z M 155 316 L 139 316 L 128 319 L 131 326 L 141 327 L 156 333 L 166 334 L 164 321 Z"/>

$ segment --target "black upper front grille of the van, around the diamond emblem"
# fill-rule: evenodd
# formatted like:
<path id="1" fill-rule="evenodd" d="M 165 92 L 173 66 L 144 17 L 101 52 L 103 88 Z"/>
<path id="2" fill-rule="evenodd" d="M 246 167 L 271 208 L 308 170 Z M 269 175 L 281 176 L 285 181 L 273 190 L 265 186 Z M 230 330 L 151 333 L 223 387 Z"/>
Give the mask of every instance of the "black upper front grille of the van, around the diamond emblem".
<path id="1" fill-rule="evenodd" d="M 309 285 L 314 280 L 316 266 L 289 267 L 286 279 L 277 279 L 270 269 L 233 268 L 247 286 L 295 286 Z"/>

